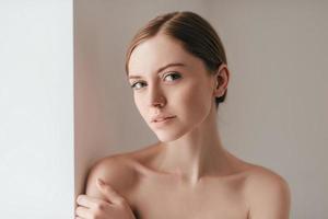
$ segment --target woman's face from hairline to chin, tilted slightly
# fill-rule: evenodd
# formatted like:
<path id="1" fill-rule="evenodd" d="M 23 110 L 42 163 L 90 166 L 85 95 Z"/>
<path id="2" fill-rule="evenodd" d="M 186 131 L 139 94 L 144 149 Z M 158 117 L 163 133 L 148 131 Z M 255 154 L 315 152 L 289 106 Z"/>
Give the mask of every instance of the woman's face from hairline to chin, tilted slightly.
<path id="1" fill-rule="evenodd" d="M 134 48 L 129 60 L 129 83 L 137 108 L 161 141 L 188 134 L 215 107 L 214 77 L 208 74 L 201 59 L 164 34 Z M 153 123 L 156 115 L 175 117 Z"/>

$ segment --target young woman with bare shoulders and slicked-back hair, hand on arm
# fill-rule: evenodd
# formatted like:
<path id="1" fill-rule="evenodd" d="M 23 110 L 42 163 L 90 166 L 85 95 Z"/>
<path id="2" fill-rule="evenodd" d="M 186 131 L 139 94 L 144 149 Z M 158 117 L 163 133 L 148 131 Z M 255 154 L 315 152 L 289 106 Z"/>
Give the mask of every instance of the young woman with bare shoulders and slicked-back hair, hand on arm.
<path id="1" fill-rule="evenodd" d="M 160 141 L 96 162 L 78 218 L 289 218 L 288 183 L 222 145 L 216 120 L 230 71 L 206 20 L 194 12 L 153 19 L 126 61 L 136 106 Z"/>

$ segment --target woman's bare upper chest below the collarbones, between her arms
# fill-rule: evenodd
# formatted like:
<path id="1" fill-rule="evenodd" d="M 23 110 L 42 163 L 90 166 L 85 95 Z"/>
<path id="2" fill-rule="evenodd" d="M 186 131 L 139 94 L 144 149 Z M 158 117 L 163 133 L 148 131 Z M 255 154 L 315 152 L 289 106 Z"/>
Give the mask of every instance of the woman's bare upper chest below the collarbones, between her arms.
<path id="1" fill-rule="evenodd" d="M 242 186 L 233 182 L 212 182 L 192 189 L 144 182 L 131 203 L 138 219 L 247 219 Z"/>

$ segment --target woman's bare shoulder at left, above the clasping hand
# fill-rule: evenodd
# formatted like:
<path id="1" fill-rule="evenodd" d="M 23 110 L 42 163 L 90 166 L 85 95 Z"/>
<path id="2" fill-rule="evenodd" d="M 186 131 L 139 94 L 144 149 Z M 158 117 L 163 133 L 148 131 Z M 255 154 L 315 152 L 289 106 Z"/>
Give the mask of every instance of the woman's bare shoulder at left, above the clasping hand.
<path id="1" fill-rule="evenodd" d="M 104 198 L 96 186 L 97 178 L 102 178 L 126 196 L 138 182 L 138 174 L 128 153 L 121 153 L 97 160 L 89 171 L 85 194 Z"/>

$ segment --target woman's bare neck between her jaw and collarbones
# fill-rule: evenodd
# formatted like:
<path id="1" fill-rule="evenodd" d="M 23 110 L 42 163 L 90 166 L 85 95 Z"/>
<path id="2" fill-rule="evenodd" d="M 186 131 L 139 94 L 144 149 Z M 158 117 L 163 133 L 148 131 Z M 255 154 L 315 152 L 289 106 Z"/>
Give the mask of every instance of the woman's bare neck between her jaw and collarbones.
<path id="1" fill-rule="evenodd" d="M 203 176 L 220 174 L 226 157 L 218 130 L 216 112 L 211 112 L 192 131 L 177 140 L 163 142 L 161 169 L 192 185 Z"/>

